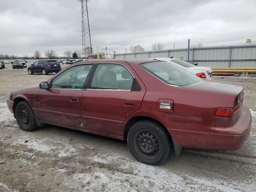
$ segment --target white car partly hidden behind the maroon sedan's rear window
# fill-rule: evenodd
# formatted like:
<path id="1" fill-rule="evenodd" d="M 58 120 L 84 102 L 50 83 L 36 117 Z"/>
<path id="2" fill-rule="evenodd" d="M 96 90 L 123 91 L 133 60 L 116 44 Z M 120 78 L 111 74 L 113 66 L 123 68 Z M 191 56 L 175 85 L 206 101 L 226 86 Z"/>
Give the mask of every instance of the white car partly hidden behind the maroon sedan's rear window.
<path id="1" fill-rule="evenodd" d="M 167 62 L 171 62 L 172 64 L 178 64 L 180 67 L 186 68 L 186 70 L 188 70 L 189 72 L 191 72 L 203 79 L 211 79 L 212 78 L 212 68 L 211 67 L 199 67 L 199 66 L 195 66 L 189 62 L 175 59 L 175 58 L 151 58 L 151 59 L 167 61 Z"/>

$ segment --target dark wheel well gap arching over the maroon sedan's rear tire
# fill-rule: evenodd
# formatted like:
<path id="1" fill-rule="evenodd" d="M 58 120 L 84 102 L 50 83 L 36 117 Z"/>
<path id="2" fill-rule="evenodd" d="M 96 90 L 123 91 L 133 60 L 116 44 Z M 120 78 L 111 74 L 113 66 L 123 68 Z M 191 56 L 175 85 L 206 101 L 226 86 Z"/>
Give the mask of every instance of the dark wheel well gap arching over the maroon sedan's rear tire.
<path id="1" fill-rule="evenodd" d="M 166 130 L 166 133 L 170 136 L 170 139 L 172 140 L 172 136 L 170 135 L 170 133 L 168 132 L 166 127 L 160 121 L 158 121 L 152 117 L 148 117 L 148 116 L 136 116 L 136 117 L 133 117 L 130 120 L 128 120 L 128 122 L 126 122 L 126 124 L 124 126 L 124 140 L 127 140 L 127 136 L 128 136 L 128 132 L 129 132 L 130 128 L 136 122 L 141 121 L 141 120 L 150 120 L 150 121 L 156 122 L 157 124 L 160 124 Z"/>

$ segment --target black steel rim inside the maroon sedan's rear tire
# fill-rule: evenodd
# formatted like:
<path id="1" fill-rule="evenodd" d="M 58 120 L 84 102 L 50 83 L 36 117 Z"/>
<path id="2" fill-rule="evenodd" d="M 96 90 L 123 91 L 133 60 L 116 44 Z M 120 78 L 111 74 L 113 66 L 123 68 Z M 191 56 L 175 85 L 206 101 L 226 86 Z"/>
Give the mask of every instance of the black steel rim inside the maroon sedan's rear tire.
<path id="1" fill-rule="evenodd" d="M 147 159 L 153 159 L 160 153 L 160 143 L 158 138 L 148 130 L 142 130 L 134 136 L 134 146 L 136 151 Z"/>

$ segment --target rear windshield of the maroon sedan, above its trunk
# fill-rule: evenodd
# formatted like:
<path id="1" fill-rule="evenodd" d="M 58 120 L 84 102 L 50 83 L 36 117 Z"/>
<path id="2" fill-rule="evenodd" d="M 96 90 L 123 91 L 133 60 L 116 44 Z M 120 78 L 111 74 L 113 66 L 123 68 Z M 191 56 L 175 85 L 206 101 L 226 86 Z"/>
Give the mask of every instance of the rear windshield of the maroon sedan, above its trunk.
<path id="1" fill-rule="evenodd" d="M 170 85 L 185 86 L 203 81 L 198 76 L 170 62 L 148 62 L 141 64 L 141 66 Z"/>

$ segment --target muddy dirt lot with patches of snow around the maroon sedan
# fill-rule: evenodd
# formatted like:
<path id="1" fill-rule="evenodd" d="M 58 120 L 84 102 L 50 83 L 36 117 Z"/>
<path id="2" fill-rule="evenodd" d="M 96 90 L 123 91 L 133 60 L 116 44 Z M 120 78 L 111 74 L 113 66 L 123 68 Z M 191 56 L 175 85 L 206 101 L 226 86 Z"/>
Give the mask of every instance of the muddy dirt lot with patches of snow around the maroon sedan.
<path id="1" fill-rule="evenodd" d="M 244 86 L 253 118 L 246 146 L 183 149 L 161 166 L 148 166 L 132 157 L 125 141 L 56 126 L 22 131 L 6 96 L 50 76 L 29 76 L 26 68 L 0 70 L 0 191 L 256 191 L 256 78 L 213 78 Z"/>

